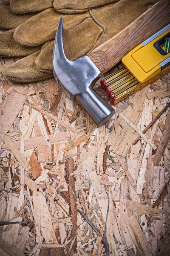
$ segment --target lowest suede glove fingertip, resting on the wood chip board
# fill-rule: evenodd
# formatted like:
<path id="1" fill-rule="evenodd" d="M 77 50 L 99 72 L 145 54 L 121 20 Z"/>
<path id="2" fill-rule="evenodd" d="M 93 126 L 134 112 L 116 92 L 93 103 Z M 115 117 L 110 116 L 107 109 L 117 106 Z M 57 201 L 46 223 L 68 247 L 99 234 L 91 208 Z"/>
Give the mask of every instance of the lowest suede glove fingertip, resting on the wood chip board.
<path id="1" fill-rule="evenodd" d="M 3 71 L 6 78 L 19 82 L 33 82 L 48 79 L 53 77 L 52 73 L 41 72 L 35 65 L 35 59 L 39 55 L 40 51 L 34 52 L 33 54 L 16 61 L 9 67 L 6 67 Z"/>

